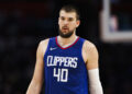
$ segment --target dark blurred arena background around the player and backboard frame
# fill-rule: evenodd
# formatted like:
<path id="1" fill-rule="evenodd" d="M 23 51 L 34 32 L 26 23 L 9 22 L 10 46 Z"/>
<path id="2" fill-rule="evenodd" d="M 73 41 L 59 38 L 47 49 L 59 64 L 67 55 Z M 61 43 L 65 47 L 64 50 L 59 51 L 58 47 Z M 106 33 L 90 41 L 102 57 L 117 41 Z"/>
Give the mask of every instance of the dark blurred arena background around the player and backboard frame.
<path id="1" fill-rule="evenodd" d="M 112 31 L 131 31 L 132 1 L 109 1 Z M 77 35 L 98 48 L 105 94 L 132 94 L 132 42 L 102 40 L 103 0 L 0 0 L 0 94 L 25 94 L 37 45 L 58 35 L 58 10 L 67 3 L 77 5 L 81 14 Z"/>

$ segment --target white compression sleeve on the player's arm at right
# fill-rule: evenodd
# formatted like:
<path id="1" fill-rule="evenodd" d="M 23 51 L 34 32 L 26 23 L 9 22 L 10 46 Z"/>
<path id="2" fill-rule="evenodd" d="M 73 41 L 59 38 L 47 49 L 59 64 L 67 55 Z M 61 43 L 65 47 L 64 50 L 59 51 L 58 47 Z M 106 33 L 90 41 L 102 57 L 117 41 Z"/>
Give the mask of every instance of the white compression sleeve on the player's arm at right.
<path id="1" fill-rule="evenodd" d="M 98 69 L 88 70 L 90 94 L 103 94 Z"/>

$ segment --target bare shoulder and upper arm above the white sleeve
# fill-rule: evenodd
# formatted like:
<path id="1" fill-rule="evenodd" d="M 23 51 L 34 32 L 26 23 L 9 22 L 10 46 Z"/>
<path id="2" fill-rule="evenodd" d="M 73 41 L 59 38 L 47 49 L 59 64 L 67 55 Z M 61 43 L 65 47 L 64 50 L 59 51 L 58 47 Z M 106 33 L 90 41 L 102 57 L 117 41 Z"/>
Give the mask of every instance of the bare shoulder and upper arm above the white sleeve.
<path id="1" fill-rule="evenodd" d="M 96 46 L 88 40 L 84 43 L 82 57 L 84 60 L 86 61 L 86 66 L 88 70 L 98 68 L 99 55 Z"/>

